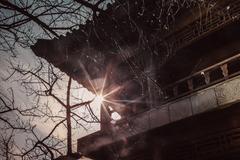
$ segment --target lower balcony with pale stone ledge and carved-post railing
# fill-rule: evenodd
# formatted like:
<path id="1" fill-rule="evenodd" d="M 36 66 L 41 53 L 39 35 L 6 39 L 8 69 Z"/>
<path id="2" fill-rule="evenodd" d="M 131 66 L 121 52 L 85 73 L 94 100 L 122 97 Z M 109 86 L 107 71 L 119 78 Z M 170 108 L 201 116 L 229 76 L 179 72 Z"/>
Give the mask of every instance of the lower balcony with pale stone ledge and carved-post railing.
<path id="1" fill-rule="evenodd" d="M 186 90 L 182 92 L 184 86 Z M 174 94 L 159 106 L 110 124 L 107 134 L 99 131 L 79 139 L 81 152 L 87 154 L 96 150 L 96 145 L 99 148 L 123 141 L 127 137 L 239 102 L 240 54 L 183 78 L 166 89 Z M 93 139 L 89 144 L 89 140 Z"/>

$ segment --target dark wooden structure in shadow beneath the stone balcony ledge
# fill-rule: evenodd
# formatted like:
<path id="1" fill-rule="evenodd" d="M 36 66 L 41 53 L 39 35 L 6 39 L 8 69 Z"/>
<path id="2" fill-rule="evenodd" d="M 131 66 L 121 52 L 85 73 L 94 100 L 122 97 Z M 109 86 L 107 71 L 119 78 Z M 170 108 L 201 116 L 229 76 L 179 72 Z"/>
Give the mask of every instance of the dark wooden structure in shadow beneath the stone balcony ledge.
<path id="1" fill-rule="evenodd" d="M 102 146 L 88 156 L 97 160 L 237 160 L 239 114 L 235 104 Z"/>

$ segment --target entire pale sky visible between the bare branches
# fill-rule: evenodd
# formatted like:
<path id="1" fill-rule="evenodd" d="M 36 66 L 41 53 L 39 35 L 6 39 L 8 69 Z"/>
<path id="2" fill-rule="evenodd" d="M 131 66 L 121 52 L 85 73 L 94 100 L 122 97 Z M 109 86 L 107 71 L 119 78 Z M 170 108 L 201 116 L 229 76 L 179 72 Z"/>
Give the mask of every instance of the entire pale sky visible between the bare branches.
<path id="1" fill-rule="evenodd" d="M 14 3 L 16 3 L 16 2 L 20 2 L 20 1 L 14 1 Z M 22 3 L 28 3 L 28 2 L 32 2 L 32 1 L 26 1 L 26 2 L 22 2 Z M 57 1 L 52 1 L 52 2 L 57 3 Z M 66 2 L 68 2 L 68 1 L 65 1 L 65 3 Z M 112 0 L 108 1 L 107 0 L 106 4 L 109 3 L 109 2 L 112 3 L 113 1 Z M 106 5 L 106 4 L 104 3 L 104 5 Z M 22 4 L 19 3 L 18 5 L 21 6 Z M 30 8 L 28 8 L 28 11 L 30 12 L 31 10 L 34 9 L 34 7 L 36 7 L 36 6 L 34 6 L 34 5 L 31 6 Z M 76 7 L 78 7 L 78 5 L 73 5 L 72 7 L 76 8 Z M 43 9 L 45 10 L 45 8 L 43 8 Z M 83 8 L 83 9 L 86 9 L 86 8 Z M 89 12 L 89 10 L 87 10 L 87 11 Z M 34 13 L 36 15 L 40 14 L 41 12 L 43 12 L 43 10 L 41 8 L 34 11 Z M 86 16 L 85 15 L 86 11 L 82 12 L 82 10 L 79 10 L 78 12 L 80 12 L 83 15 L 79 15 L 79 16 L 76 16 L 76 17 L 73 16 L 74 14 L 73 15 L 72 14 L 65 15 L 63 17 L 70 17 L 70 18 L 65 18 L 65 19 L 63 18 L 65 21 L 61 20 L 61 18 L 60 18 L 59 21 L 55 22 L 55 25 L 59 25 L 60 27 L 62 27 L 62 26 L 72 26 L 75 23 L 77 23 L 77 24 L 84 23 L 86 21 L 86 18 L 91 18 L 91 16 L 90 16 L 91 12 L 89 14 L 87 14 L 87 16 L 90 16 L 90 17 L 85 17 Z M 8 16 L 11 17 L 11 14 L 15 14 L 15 12 L 4 10 L 4 12 L 2 12 L 1 14 L 3 14 L 6 17 L 8 17 Z M 1 15 L 1 16 L 4 18 L 3 15 Z M 18 18 L 21 19 L 22 17 L 23 16 L 20 15 L 19 17 L 17 17 L 17 19 Z M 12 18 L 5 23 L 11 23 L 11 21 L 16 20 L 15 18 Z M 46 24 L 49 24 L 51 22 L 51 18 L 49 16 L 40 16 L 39 19 L 46 22 Z M 18 107 L 21 107 L 21 108 L 28 108 L 28 107 L 36 105 L 36 99 L 34 99 L 34 97 L 29 96 L 26 93 L 25 88 L 22 86 L 21 82 L 18 81 L 19 80 L 19 75 L 15 74 L 9 80 L 7 80 L 7 81 L 4 80 L 6 77 L 9 76 L 9 74 L 11 74 L 11 68 L 10 68 L 10 65 L 9 65 L 9 61 L 14 62 L 14 64 L 22 64 L 22 65 L 30 67 L 30 68 L 36 67 L 37 58 L 34 55 L 34 53 L 32 52 L 32 50 L 29 48 L 29 44 L 34 44 L 38 38 L 47 38 L 47 39 L 50 38 L 51 39 L 52 37 L 48 37 L 48 35 L 45 34 L 45 32 L 42 30 L 42 28 L 39 27 L 37 24 L 35 24 L 33 21 L 30 21 L 27 24 L 21 26 L 21 28 L 18 27 L 18 29 L 20 31 L 26 33 L 27 36 L 22 35 L 21 32 L 19 32 L 18 36 L 22 38 L 22 39 L 20 38 L 20 41 L 22 41 L 23 44 L 27 43 L 28 47 L 23 48 L 21 46 L 18 46 L 18 44 L 15 44 L 14 42 L 13 43 L 11 42 L 12 45 L 15 45 L 15 46 L 13 46 L 14 49 L 15 49 L 14 51 L 16 52 L 16 56 L 17 56 L 15 58 L 13 58 L 12 54 L 10 54 L 8 52 L 2 51 L 2 50 L 0 51 L 0 93 L 5 94 L 7 96 L 10 96 L 8 91 L 9 91 L 9 88 L 12 88 L 13 92 L 14 92 L 15 105 L 18 106 Z M 76 29 L 77 29 L 77 27 L 76 27 Z M 59 31 L 59 33 L 61 33 L 61 31 Z M 4 34 L 2 34 L 2 35 L 5 35 L 6 37 L 8 37 L 8 36 L 11 37 L 11 35 L 8 32 L 5 32 L 5 31 L 4 31 Z M 0 39 L 0 40 L 2 40 L 2 39 Z M 6 49 L 6 48 L 4 48 L 4 46 L 3 46 L 3 49 Z M 45 60 L 43 60 L 43 61 L 45 61 Z M 68 80 L 68 76 L 64 75 L 62 77 L 62 81 L 59 84 L 59 86 L 66 86 L 67 80 Z M 79 84 L 75 81 L 73 81 L 73 85 L 74 86 L 79 86 Z M 64 87 L 62 87 L 62 88 L 59 87 L 59 88 L 56 89 L 55 93 L 59 96 L 64 97 L 65 94 L 66 94 L 66 88 L 64 90 Z M 91 100 L 96 96 L 93 93 L 89 92 L 86 88 L 72 89 L 72 94 L 75 97 L 78 97 L 79 99 L 83 99 L 83 101 Z M 75 99 L 75 101 L 77 101 L 77 99 Z M 53 112 L 55 115 L 64 115 L 64 112 L 62 112 L 62 108 L 59 107 L 59 104 L 56 101 L 54 101 L 52 99 L 48 99 L 48 98 L 41 98 L 40 99 L 40 104 L 41 105 L 45 105 L 46 103 L 48 103 L 48 105 L 51 106 L 51 112 Z M 98 116 L 98 118 L 100 118 L 100 106 L 101 106 L 101 102 L 99 101 L 99 99 L 97 99 L 95 97 L 94 101 L 91 103 L 91 108 L 95 112 L 95 115 Z M 77 109 L 76 113 L 78 113 L 81 116 L 85 116 L 85 117 L 89 116 L 89 115 L 86 115 L 89 112 L 86 112 L 86 108 L 84 108 L 84 107 L 80 108 L 80 109 Z M 5 116 L 14 118 L 14 114 L 12 114 L 12 113 L 10 113 L 9 115 L 5 115 Z M 118 115 L 116 115 L 116 117 L 117 116 Z M 22 117 L 22 118 L 23 118 L 23 120 L 28 120 L 29 119 L 29 118 L 26 118 L 26 117 Z M 31 119 L 31 124 L 36 125 L 35 130 L 36 130 L 38 136 L 39 137 L 44 137 L 55 126 L 56 122 L 54 123 L 49 119 L 40 117 L 40 118 Z M 1 126 L 1 124 L 0 124 L 0 126 Z M 100 130 L 100 124 L 99 123 L 97 123 L 97 124 L 96 123 L 93 123 L 93 124 L 92 123 L 91 124 L 86 124 L 85 123 L 84 127 L 86 127 L 87 130 L 84 129 L 83 127 L 80 127 L 79 129 L 73 129 L 72 138 L 73 138 L 73 144 L 75 144 L 74 148 L 73 148 L 74 151 L 76 151 L 76 140 L 78 138 Z M 0 133 L 1 133 L 1 131 L 0 131 Z M 60 126 L 56 130 L 56 132 L 54 132 L 54 135 L 58 136 L 60 138 L 63 138 L 63 139 L 66 138 L 66 128 L 64 126 Z M 19 145 L 24 145 L 26 137 L 27 137 L 27 135 L 18 134 L 16 136 L 15 140 Z"/>

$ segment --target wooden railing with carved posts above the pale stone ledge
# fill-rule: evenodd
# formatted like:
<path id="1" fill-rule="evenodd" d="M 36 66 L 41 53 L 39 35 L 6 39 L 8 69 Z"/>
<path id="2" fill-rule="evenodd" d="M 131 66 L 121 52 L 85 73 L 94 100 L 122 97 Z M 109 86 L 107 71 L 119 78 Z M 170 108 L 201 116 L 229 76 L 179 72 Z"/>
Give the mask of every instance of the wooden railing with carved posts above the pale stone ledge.
<path id="1" fill-rule="evenodd" d="M 180 98 L 240 74 L 240 54 L 225 59 L 163 89 L 164 101 Z"/>

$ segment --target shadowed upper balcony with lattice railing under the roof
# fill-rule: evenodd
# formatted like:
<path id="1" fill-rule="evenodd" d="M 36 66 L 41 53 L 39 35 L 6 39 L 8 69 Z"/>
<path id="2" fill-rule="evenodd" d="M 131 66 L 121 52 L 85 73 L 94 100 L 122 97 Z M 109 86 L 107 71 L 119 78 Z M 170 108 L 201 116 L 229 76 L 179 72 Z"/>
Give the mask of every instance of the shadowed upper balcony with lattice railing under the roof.
<path id="1" fill-rule="evenodd" d="M 238 23 L 239 17 L 239 0 L 230 0 L 219 4 L 216 3 L 213 4 L 209 11 L 204 10 L 201 16 L 193 15 L 191 18 L 192 21 L 188 24 L 176 26 L 176 30 L 171 31 L 164 36 L 165 42 L 167 43 L 160 43 L 160 46 L 162 46 L 162 55 L 166 56 L 163 58 L 160 66 L 164 65 L 169 58 L 173 57 L 181 49 L 189 47 L 191 44 L 211 35 L 212 33 L 221 31 L 221 29 L 226 26 Z M 185 19 L 182 21 L 185 21 Z"/>

